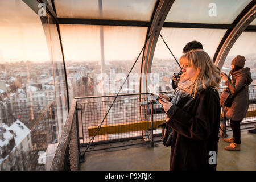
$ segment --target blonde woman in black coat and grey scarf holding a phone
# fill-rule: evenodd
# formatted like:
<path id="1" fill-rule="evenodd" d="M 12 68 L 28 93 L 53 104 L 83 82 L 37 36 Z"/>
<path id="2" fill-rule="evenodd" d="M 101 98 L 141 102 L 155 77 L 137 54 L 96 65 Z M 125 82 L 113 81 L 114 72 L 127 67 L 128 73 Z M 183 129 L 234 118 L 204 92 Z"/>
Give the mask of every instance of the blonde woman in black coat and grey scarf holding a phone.
<path id="1" fill-rule="evenodd" d="M 174 98 L 163 96 L 168 101 L 160 101 L 173 130 L 170 170 L 216 170 L 220 72 L 199 49 L 181 56 L 180 64 L 183 75 Z"/>

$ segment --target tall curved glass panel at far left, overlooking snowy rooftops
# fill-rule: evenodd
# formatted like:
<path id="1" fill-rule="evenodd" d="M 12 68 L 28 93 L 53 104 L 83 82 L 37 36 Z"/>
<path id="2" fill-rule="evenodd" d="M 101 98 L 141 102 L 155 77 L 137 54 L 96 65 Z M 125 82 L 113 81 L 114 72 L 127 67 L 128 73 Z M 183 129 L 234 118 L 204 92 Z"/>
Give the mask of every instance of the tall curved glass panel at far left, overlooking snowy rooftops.
<path id="1" fill-rule="evenodd" d="M 0 170 L 49 169 L 61 135 L 56 88 L 62 81 L 52 64 L 59 49 L 51 51 L 55 40 L 45 35 L 55 33 L 23 1 L 0 1 L 0 7 Z"/>

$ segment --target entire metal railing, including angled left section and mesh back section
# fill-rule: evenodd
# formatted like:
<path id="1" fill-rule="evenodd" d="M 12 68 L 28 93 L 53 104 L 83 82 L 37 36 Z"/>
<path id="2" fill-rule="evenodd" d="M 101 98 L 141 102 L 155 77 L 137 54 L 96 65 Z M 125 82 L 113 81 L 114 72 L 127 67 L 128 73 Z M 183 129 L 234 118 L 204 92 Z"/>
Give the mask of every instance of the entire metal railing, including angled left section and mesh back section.
<path id="1" fill-rule="evenodd" d="M 249 112 L 254 111 L 254 113 L 255 86 L 251 85 L 249 91 Z M 167 95 L 173 96 L 173 92 Z M 114 97 L 115 95 L 76 97 L 72 101 L 51 170 L 79 169 L 79 162 L 82 160 L 80 150 L 88 145 L 90 138 L 97 131 Z M 242 123 L 256 122 L 255 115 L 247 114 Z M 122 143 L 134 139 L 142 139 L 152 144 L 155 136 L 162 135 L 162 130 L 156 126 L 163 122 L 165 122 L 165 114 L 162 112 L 162 105 L 151 102 L 148 93 L 119 94 L 91 146 L 93 148 L 102 146 L 101 144 Z"/>

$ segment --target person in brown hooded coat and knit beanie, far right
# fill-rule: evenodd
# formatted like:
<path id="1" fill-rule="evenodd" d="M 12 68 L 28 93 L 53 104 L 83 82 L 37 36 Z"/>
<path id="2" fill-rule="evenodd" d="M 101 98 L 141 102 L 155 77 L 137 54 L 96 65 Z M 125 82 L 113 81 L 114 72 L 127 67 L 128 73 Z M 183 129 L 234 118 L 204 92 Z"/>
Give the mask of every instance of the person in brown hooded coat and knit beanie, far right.
<path id="1" fill-rule="evenodd" d="M 222 79 L 225 85 L 228 86 L 231 93 L 237 93 L 232 102 L 232 106 L 225 107 L 225 116 L 230 119 L 230 126 L 233 130 L 233 137 L 224 138 L 225 142 L 230 145 L 225 147 L 225 150 L 240 151 L 241 131 L 240 122 L 246 117 L 249 108 L 249 88 L 248 85 L 253 81 L 251 79 L 250 68 L 243 68 L 245 65 L 244 56 L 236 56 L 231 63 L 230 75 L 232 79 L 221 72 Z"/>

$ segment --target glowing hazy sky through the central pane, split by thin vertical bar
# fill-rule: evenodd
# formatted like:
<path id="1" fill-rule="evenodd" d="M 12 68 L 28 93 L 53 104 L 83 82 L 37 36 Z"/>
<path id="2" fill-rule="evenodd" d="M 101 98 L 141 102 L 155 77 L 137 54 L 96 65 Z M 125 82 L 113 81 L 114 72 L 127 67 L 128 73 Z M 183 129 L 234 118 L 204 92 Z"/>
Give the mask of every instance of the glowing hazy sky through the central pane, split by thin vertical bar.
<path id="1" fill-rule="evenodd" d="M 105 60 L 133 60 L 139 55 L 146 27 L 104 26 Z M 60 25 L 67 60 L 100 60 L 100 26 Z"/>

